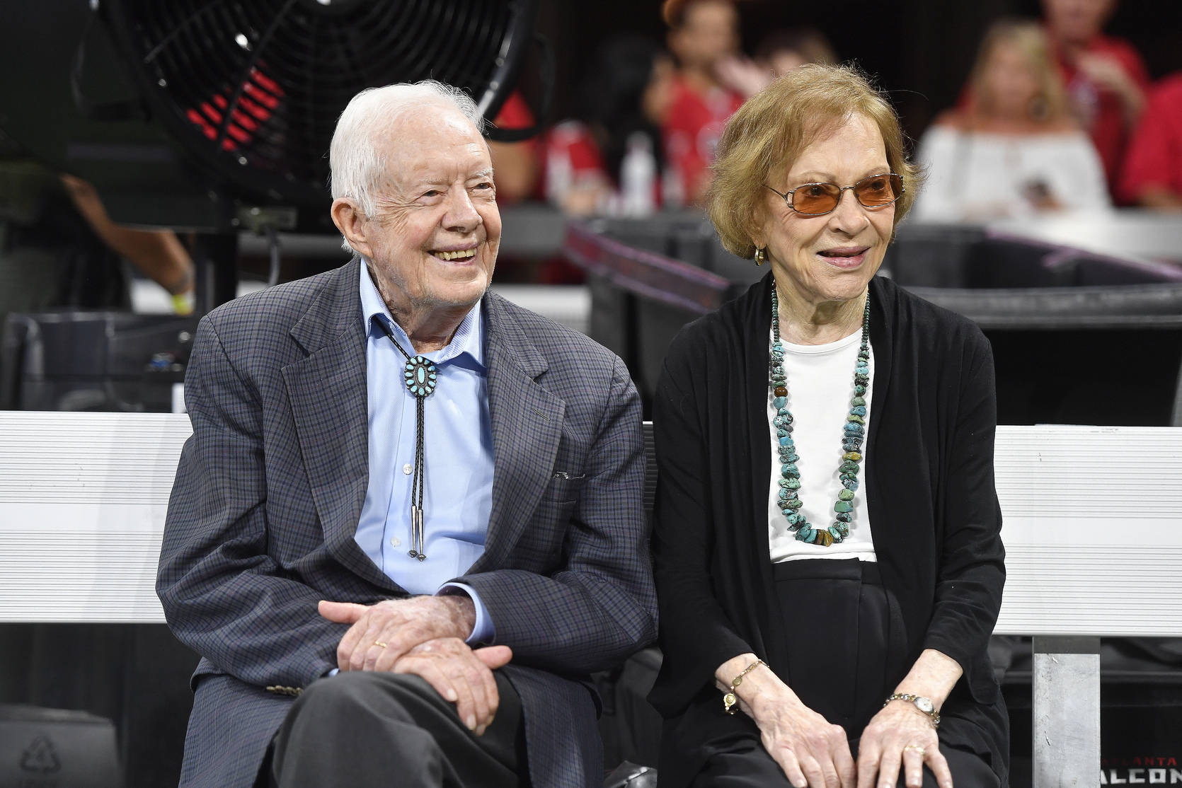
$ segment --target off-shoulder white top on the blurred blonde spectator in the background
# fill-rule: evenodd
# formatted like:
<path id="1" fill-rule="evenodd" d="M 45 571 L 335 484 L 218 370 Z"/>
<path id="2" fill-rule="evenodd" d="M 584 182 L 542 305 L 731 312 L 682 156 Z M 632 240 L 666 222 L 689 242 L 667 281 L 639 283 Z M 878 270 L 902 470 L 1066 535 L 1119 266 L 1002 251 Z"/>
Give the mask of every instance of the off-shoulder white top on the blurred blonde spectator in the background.
<path id="1" fill-rule="evenodd" d="M 916 154 L 928 181 L 921 222 L 989 221 L 1037 214 L 1026 193 L 1043 184 L 1069 210 L 1111 208 L 1104 165 L 1083 131 L 1001 135 L 931 126 Z"/>

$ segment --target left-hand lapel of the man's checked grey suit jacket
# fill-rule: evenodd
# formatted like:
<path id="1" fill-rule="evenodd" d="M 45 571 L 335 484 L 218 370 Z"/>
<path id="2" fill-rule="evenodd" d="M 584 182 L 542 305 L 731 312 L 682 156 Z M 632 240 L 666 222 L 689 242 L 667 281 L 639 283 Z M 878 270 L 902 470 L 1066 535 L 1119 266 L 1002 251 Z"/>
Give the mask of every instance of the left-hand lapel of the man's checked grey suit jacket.
<path id="1" fill-rule="evenodd" d="M 329 552 L 370 582 L 398 590 L 353 541 L 369 486 L 369 402 L 361 261 L 339 268 L 292 327 L 307 358 L 284 367 L 296 432 Z"/>

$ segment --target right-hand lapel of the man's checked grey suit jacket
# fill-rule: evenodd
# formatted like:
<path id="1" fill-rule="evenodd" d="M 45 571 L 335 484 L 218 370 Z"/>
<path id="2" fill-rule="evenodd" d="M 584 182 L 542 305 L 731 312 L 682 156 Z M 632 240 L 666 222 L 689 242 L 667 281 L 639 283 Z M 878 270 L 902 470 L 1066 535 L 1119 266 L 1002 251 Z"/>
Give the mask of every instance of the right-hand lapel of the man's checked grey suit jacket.
<path id="1" fill-rule="evenodd" d="M 493 507 L 485 554 L 472 572 L 506 565 L 554 469 L 566 403 L 535 382 L 548 369 L 495 293 L 488 315 L 488 413 L 493 431 Z"/>

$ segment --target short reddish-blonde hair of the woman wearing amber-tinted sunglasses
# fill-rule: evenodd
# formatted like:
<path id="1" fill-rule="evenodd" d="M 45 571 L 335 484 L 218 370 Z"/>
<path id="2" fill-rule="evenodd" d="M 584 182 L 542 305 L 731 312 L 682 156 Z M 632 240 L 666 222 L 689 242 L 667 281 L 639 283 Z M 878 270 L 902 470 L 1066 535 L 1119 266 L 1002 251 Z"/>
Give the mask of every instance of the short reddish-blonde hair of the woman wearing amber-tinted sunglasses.
<path id="1" fill-rule="evenodd" d="M 769 194 L 764 185 L 772 170 L 791 168 L 823 131 L 855 115 L 878 126 L 886 163 L 903 178 L 903 196 L 895 203 L 898 226 L 920 184 L 918 168 L 907 158 L 898 116 L 857 69 L 812 64 L 793 69 L 747 99 L 719 139 L 706 211 L 728 252 L 748 259 L 755 255 L 751 236 L 762 220 Z"/>

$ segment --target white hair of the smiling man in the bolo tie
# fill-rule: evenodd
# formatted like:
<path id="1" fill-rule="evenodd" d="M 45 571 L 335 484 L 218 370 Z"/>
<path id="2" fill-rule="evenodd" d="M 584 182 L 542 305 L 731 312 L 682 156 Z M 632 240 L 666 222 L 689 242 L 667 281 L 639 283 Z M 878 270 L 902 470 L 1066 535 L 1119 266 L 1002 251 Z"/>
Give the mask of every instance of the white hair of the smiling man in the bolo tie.
<path id="1" fill-rule="evenodd" d="M 374 187 L 385 172 L 381 133 L 402 115 L 424 105 L 450 105 L 483 132 L 485 118 L 472 97 L 434 79 L 370 87 L 353 96 L 337 119 L 329 146 L 332 197 L 355 200 L 366 216 L 375 211 Z M 349 241 L 345 241 L 349 249 Z"/>

